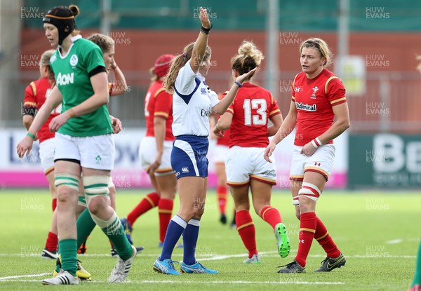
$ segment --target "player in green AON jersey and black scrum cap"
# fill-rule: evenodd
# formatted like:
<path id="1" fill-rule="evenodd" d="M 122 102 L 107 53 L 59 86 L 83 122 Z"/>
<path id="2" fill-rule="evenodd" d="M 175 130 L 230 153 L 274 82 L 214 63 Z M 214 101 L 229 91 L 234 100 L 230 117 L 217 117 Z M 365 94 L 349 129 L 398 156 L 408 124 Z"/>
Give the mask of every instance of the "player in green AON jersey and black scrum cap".
<path id="1" fill-rule="evenodd" d="M 19 156 L 32 148 L 34 135 L 53 108 L 62 102 L 62 113 L 49 128 L 55 132 L 55 185 L 58 189 L 58 236 L 62 271 L 46 285 L 74 285 L 76 276 L 76 217 L 79 177 L 91 217 L 112 241 L 119 254 L 108 281 L 122 282 L 131 268 L 136 250 L 128 243 L 116 212 L 108 201 L 109 172 L 114 166 L 114 140 L 107 103 L 107 72 L 100 48 L 82 39 L 75 30 L 76 6 L 52 8 L 44 17 L 44 29 L 51 46 L 56 86 L 48 101 L 18 144 Z M 48 113 L 48 114 L 47 114 Z"/>

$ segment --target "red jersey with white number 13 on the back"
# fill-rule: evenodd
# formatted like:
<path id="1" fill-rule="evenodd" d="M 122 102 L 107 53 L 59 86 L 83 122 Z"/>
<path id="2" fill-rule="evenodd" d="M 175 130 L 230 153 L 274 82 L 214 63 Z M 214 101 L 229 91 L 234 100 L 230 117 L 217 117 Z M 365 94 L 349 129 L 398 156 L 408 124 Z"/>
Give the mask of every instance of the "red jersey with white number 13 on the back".
<path id="1" fill-rule="evenodd" d="M 269 118 L 281 114 L 272 94 L 251 83 L 243 83 L 227 112 L 233 114 L 229 147 L 267 147 Z"/>

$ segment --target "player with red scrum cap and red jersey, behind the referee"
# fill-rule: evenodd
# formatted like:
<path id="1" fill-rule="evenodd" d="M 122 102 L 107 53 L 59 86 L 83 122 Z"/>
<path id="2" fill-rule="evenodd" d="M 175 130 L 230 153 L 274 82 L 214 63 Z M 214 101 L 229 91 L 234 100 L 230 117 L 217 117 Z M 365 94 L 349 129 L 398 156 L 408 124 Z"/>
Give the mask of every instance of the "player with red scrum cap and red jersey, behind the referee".
<path id="1" fill-rule="evenodd" d="M 140 215 L 158 206 L 159 247 L 162 247 L 166 229 L 171 220 L 173 202 L 177 191 L 177 179 L 171 167 L 173 148 L 173 96 L 162 87 L 162 78 L 168 73 L 174 55 L 161 55 L 151 69 L 152 85 L 145 97 L 146 136 L 139 148 L 139 159 L 151 179 L 154 192 L 145 198 L 121 219 L 128 240 L 132 242 L 133 224 Z M 181 246 L 181 245 L 180 245 Z"/>

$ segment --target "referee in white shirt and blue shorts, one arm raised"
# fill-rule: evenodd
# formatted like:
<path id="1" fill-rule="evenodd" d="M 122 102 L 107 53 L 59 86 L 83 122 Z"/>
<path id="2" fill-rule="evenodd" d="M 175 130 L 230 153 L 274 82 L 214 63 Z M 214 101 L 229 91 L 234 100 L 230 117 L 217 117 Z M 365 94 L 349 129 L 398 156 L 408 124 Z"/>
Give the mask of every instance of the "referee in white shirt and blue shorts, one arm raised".
<path id="1" fill-rule="evenodd" d="M 180 210 L 171 219 L 166 232 L 161 256 L 154 263 L 154 271 L 180 275 L 171 259 L 175 244 L 183 235 L 184 255 L 182 273 L 218 273 L 196 262 L 194 250 L 199 236 L 208 189 L 208 135 L 210 114 L 224 114 L 245 79 L 255 72 L 237 77 L 223 100 L 209 89 L 203 77 L 210 68 L 208 36 L 212 25 L 206 9 L 200 8 L 201 32 L 194 43 L 175 57 L 163 80 L 163 87 L 173 94 L 173 151 L 171 166 L 178 179 Z"/>

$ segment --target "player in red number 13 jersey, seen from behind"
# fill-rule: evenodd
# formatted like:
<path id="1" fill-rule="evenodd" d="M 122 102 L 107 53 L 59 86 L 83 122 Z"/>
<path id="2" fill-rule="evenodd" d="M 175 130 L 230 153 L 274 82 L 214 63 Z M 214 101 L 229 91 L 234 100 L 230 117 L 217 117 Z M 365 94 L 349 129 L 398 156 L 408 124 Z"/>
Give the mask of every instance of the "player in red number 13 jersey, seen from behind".
<path id="1" fill-rule="evenodd" d="M 238 55 L 231 60 L 234 76 L 240 76 L 259 67 L 262 52 L 250 41 L 243 41 Z M 243 82 L 236 99 L 221 116 L 213 132 L 231 129 L 227 154 L 227 184 L 234 198 L 236 225 L 248 250 L 245 264 L 260 264 L 261 258 L 255 240 L 255 226 L 250 216 L 248 189 L 251 190 L 255 212 L 270 224 L 276 237 L 277 251 L 286 257 L 290 243 L 279 210 L 270 205 L 272 186 L 276 185 L 276 167 L 267 163 L 262 155 L 269 144 L 269 136 L 276 133 L 282 123 L 282 114 L 272 94 L 259 86 Z M 268 122 L 273 125 L 268 127 Z"/>

